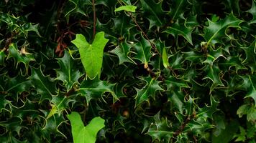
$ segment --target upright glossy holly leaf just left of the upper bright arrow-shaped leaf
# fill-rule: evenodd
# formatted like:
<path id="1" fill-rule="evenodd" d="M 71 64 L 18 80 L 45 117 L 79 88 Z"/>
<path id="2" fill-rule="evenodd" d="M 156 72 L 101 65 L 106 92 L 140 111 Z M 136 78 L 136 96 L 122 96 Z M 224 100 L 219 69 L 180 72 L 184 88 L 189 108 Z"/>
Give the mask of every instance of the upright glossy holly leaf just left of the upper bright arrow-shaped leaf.
<path id="1" fill-rule="evenodd" d="M 76 62 L 70 57 L 68 51 L 65 51 L 64 56 L 57 58 L 57 60 L 60 69 L 55 69 L 58 74 L 56 79 L 62 81 L 67 91 L 69 91 L 73 87 L 73 84 L 78 83 L 78 79 L 82 76 L 82 73 L 76 68 Z"/>

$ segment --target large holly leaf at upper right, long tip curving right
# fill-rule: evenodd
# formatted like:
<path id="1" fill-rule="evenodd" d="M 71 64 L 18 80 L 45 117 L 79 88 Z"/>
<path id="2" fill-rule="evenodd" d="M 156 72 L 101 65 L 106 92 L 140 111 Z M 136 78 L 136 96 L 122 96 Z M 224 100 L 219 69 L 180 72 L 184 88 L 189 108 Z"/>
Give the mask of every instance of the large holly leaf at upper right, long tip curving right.
<path id="1" fill-rule="evenodd" d="M 229 27 L 240 28 L 239 24 L 242 20 L 237 19 L 233 14 L 229 14 L 225 19 L 221 19 L 217 22 L 212 22 L 208 19 L 209 26 L 204 28 L 205 34 L 202 36 L 206 40 L 206 46 L 209 44 L 222 43 L 221 39 L 227 36 L 226 30 Z"/>

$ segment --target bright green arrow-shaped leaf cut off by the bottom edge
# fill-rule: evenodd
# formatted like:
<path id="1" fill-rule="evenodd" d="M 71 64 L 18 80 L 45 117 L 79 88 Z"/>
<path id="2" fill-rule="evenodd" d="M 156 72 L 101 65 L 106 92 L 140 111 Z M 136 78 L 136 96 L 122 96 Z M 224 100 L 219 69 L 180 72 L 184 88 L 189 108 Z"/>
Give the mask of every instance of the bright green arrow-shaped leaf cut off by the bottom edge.
<path id="1" fill-rule="evenodd" d="M 101 117 L 93 118 L 86 127 L 83 125 L 83 121 L 77 112 L 72 112 L 67 117 L 71 123 L 74 143 L 95 143 L 97 133 L 105 127 L 105 120 L 101 119 Z"/>

